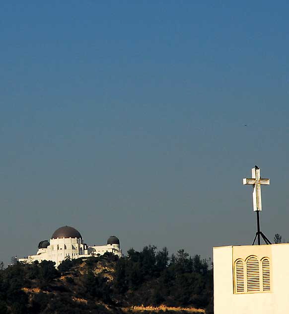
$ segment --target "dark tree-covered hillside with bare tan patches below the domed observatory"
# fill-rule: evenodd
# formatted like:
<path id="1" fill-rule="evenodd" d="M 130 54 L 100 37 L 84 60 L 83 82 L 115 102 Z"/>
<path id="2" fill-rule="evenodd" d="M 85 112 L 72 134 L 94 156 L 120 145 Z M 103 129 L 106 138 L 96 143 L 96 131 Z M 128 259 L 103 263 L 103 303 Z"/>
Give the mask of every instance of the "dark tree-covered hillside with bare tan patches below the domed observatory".
<path id="1" fill-rule="evenodd" d="M 121 314 L 160 305 L 213 313 L 212 270 L 199 255 L 169 257 L 155 246 L 128 253 L 67 259 L 58 269 L 51 261 L 0 269 L 0 314 Z"/>

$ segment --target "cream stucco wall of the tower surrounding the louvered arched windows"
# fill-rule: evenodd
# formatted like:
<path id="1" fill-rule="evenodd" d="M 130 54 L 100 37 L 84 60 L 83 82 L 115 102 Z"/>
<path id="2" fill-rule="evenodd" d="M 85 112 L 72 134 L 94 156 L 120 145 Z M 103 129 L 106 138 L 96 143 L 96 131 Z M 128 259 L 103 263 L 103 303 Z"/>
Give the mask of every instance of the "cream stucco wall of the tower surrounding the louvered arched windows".
<path id="1" fill-rule="evenodd" d="M 289 244 L 214 247 L 215 314 L 289 313 Z M 271 291 L 234 294 L 233 263 L 237 258 L 267 256 Z"/>

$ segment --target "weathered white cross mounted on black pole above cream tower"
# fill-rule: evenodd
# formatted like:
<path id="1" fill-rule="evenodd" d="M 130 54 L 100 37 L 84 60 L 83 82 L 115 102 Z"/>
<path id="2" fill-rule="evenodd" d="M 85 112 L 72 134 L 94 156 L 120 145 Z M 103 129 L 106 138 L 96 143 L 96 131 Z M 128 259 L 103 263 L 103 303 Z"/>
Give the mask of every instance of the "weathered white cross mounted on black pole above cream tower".
<path id="1" fill-rule="evenodd" d="M 262 202 L 261 202 L 261 184 L 270 184 L 269 179 L 263 179 L 260 176 L 260 168 L 255 166 L 252 168 L 252 178 L 243 179 L 243 184 L 252 184 L 254 185 L 253 190 L 253 209 L 254 212 L 262 210 Z"/>

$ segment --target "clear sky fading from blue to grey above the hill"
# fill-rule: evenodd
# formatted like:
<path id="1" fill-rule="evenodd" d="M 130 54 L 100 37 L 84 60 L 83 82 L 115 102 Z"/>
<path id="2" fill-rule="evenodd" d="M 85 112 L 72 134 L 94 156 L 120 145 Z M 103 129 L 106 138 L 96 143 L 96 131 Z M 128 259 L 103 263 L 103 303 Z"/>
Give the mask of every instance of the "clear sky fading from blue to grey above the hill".
<path id="1" fill-rule="evenodd" d="M 5 1 L 0 260 L 59 227 L 185 249 L 289 241 L 289 2 Z"/>

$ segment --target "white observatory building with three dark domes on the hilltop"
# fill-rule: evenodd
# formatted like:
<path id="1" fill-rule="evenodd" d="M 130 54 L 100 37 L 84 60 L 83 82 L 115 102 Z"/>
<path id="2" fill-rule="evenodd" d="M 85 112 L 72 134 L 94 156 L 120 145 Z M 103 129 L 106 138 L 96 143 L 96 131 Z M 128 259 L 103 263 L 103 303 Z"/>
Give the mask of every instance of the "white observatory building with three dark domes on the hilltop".
<path id="1" fill-rule="evenodd" d="M 20 262 L 33 263 L 51 260 L 57 267 L 66 258 L 79 258 L 103 255 L 111 252 L 119 257 L 123 257 L 120 241 L 112 235 L 108 238 L 106 245 L 88 246 L 83 242 L 80 233 L 69 226 L 57 229 L 51 239 L 40 241 L 36 255 L 29 255 L 27 258 L 20 258 Z"/>

